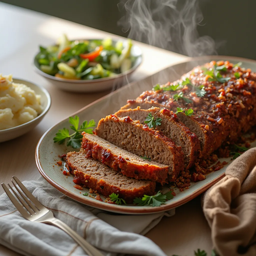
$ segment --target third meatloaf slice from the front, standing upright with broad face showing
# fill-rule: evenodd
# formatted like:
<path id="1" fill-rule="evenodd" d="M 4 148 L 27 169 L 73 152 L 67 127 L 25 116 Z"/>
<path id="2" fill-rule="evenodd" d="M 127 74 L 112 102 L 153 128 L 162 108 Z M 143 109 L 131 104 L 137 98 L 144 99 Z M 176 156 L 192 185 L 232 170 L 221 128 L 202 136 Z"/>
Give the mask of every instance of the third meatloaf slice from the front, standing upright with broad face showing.
<path id="1" fill-rule="evenodd" d="M 149 128 L 129 117 L 109 115 L 102 118 L 95 132 L 101 138 L 137 156 L 168 165 L 168 181 L 173 181 L 184 169 L 184 154 L 181 147 L 162 132 Z"/>

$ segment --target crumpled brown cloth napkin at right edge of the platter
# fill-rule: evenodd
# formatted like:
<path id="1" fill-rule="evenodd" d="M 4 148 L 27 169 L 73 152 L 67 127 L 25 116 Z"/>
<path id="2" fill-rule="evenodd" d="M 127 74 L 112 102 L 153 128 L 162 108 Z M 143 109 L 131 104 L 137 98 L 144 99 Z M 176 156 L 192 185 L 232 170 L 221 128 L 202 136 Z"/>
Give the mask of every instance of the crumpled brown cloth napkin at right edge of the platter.
<path id="1" fill-rule="evenodd" d="M 202 202 L 216 253 L 255 256 L 256 148 L 235 159 Z"/>

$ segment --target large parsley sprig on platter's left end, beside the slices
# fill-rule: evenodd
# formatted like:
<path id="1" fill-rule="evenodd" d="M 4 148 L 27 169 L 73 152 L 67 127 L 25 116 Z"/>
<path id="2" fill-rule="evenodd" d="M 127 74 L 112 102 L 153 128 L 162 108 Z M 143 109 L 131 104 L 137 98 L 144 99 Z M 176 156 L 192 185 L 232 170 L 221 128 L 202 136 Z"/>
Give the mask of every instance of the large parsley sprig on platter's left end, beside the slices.
<path id="1" fill-rule="evenodd" d="M 68 138 L 67 146 L 71 146 L 73 148 L 79 148 L 81 147 L 81 138 L 83 137 L 81 135 L 81 132 L 92 134 L 92 128 L 90 127 L 95 126 L 95 122 L 93 119 L 90 120 L 89 123 L 87 122 L 87 120 L 85 120 L 81 124 L 80 129 L 78 129 L 79 117 L 76 115 L 74 118 L 70 116 L 69 123 L 71 124 L 70 128 L 75 132 L 72 134 L 69 134 L 69 130 L 67 128 L 63 128 L 62 130 L 59 130 L 55 134 L 55 137 L 53 138 L 53 140 L 54 142 L 58 142 L 59 144 L 62 144 Z"/>

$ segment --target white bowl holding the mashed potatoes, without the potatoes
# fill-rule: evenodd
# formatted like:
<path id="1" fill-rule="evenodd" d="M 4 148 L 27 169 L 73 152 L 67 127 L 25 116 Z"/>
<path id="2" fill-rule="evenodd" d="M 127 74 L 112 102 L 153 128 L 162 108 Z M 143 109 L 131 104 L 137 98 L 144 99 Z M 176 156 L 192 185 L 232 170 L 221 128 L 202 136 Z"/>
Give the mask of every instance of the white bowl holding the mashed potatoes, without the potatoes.
<path id="1" fill-rule="evenodd" d="M 24 124 L 21 124 L 21 125 L 9 128 L 9 129 L 0 130 L 0 142 L 12 140 L 14 138 L 17 138 L 17 137 L 27 133 L 30 130 L 32 130 L 44 118 L 44 116 L 48 112 L 50 105 L 51 105 L 50 94 L 44 87 L 36 85 L 36 84 L 26 81 L 26 80 L 16 79 L 16 78 L 13 78 L 13 82 L 25 84 L 26 86 L 28 86 L 32 90 L 34 90 L 36 92 L 36 94 L 41 95 L 41 104 L 43 107 L 43 111 L 35 119 L 33 119 L 27 123 L 24 123 Z"/>

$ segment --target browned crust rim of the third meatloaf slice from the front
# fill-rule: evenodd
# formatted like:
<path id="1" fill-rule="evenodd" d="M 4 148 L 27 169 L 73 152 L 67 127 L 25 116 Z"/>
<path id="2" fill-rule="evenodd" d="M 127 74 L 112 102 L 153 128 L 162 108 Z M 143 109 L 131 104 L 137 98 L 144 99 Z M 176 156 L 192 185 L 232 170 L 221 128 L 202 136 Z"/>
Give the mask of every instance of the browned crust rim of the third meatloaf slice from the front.
<path id="1" fill-rule="evenodd" d="M 169 169 L 168 175 L 169 182 L 174 181 L 178 176 L 179 172 L 184 169 L 184 154 L 181 147 L 175 145 L 175 143 L 170 138 L 167 138 L 162 132 L 151 129 L 147 125 L 142 125 L 139 121 L 133 121 L 131 118 L 129 118 L 129 116 L 119 118 L 116 115 L 108 115 L 99 121 L 98 126 L 95 129 L 96 135 L 101 135 L 101 125 L 104 122 L 123 122 L 132 126 L 136 126 L 137 129 L 141 129 L 142 132 L 151 133 L 157 138 L 157 140 L 161 140 L 163 143 L 165 143 L 173 155 L 173 166 L 170 166 L 171 171 Z"/>

